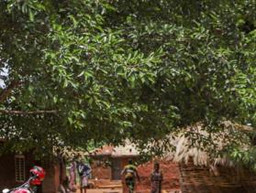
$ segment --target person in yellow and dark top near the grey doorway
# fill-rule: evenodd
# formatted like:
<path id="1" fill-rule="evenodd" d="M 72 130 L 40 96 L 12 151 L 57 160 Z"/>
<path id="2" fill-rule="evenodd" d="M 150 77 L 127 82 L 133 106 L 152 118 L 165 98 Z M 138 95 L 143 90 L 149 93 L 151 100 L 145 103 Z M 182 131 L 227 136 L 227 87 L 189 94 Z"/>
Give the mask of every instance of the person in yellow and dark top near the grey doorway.
<path id="1" fill-rule="evenodd" d="M 128 160 L 128 165 L 125 166 L 121 175 L 125 176 L 126 187 L 128 188 L 129 193 L 132 193 L 135 189 L 136 178 L 139 180 L 137 167 L 133 165 L 132 159 Z"/>

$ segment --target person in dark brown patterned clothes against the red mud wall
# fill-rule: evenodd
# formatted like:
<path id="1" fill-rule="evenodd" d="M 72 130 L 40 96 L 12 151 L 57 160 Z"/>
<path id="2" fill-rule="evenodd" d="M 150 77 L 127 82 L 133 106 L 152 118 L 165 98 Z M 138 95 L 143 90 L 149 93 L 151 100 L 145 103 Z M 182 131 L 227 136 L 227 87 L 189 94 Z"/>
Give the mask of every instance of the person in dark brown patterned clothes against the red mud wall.
<path id="1" fill-rule="evenodd" d="M 160 164 L 158 162 L 154 163 L 154 169 L 151 173 L 150 181 L 151 193 L 161 193 L 162 174 L 160 171 Z"/>

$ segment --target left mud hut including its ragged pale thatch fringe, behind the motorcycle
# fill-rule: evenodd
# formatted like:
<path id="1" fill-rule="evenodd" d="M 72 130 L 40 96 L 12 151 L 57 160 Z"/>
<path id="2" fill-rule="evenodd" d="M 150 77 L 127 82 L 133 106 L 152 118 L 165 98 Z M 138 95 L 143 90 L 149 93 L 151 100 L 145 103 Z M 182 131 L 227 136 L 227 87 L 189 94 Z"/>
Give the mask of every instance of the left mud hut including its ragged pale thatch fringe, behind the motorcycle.
<path id="1" fill-rule="evenodd" d="M 0 137 L 0 147 L 6 139 Z M 72 156 L 84 157 L 83 151 L 64 146 L 53 147 L 52 155 L 39 159 L 34 149 L 26 152 L 5 152 L 0 154 L 0 191 L 4 188 L 17 188 L 28 180 L 32 166 L 42 166 L 46 176 L 42 183 L 43 193 L 56 193 L 67 180 L 66 162 Z"/>

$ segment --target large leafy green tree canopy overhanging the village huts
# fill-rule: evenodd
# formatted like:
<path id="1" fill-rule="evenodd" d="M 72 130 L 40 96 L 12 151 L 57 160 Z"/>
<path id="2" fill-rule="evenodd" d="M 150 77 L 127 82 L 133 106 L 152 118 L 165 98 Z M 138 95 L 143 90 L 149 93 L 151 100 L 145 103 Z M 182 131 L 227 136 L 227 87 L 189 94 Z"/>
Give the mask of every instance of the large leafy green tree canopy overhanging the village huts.
<path id="1" fill-rule="evenodd" d="M 21 150 L 145 147 L 196 123 L 255 128 L 255 5 L 1 1 L 1 136 Z"/>

